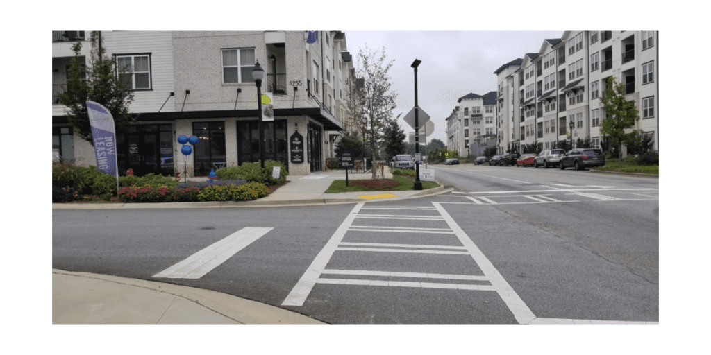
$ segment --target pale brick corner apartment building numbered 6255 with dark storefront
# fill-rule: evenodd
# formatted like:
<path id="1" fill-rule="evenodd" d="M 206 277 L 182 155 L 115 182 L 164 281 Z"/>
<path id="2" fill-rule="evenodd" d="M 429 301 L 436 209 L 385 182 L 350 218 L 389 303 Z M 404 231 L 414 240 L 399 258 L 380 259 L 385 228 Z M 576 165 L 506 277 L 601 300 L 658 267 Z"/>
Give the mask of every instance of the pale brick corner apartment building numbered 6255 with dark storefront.
<path id="1" fill-rule="evenodd" d="M 67 32 L 70 32 L 67 35 Z M 90 31 L 53 31 L 53 148 L 77 164 L 95 165 L 89 142 L 68 126 L 58 94 L 73 57 L 70 46 Z M 349 121 L 343 88 L 353 73 L 341 31 L 102 31 L 102 45 L 134 90 L 136 124 L 117 136 L 119 172 L 188 175 L 260 160 L 257 87 L 272 94 L 274 121 L 264 122 L 264 155 L 292 175 L 324 169 L 331 145 Z M 314 40 L 315 37 L 315 40 Z M 88 59 L 90 43 L 82 55 Z M 176 137 L 198 136 L 187 157 Z M 294 151 L 296 142 L 303 152 Z"/>

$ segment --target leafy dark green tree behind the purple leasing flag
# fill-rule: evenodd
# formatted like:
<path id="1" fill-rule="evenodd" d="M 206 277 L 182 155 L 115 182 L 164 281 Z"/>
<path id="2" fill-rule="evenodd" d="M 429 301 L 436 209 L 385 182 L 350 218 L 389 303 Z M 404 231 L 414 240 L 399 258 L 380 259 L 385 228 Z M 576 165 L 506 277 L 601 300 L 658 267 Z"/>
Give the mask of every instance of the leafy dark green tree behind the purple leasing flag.
<path id="1" fill-rule="evenodd" d="M 117 64 L 106 56 L 102 48 L 101 32 L 92 31 L 89 65 L 80 55 L 82 43 L 73 45 L 72 58 L 68 71 L 67 90 L 60 95 L 60 102 L 68 109 L 69 124 L 76 129 L 77 134 L 92 145 L 91 125 L 87 113 L 87 100 L 97 102 L 106 107 L 114 117 L 116 133 L 123 133 L 124 126 L 131 123 L 129 104 L 134 99 L 134 93 L 125 82 L 119 80 Z M 119 72 L 125 68 L 118 68 Z"/>

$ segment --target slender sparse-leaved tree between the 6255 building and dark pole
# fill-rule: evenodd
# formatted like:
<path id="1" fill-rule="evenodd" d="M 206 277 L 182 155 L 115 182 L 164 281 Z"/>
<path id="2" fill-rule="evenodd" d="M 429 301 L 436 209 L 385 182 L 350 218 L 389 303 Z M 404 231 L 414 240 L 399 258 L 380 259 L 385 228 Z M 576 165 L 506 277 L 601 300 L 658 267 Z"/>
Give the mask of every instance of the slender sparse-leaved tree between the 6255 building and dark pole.
<path id="1" fill-rule="evenodd" d="M 360 90 L 360 103 L 363 109 L 362 116 L 355 116 L 356 124 L 363 128 L 363 133 L 368 136 L 370 153 L 375 161 L 375 152 L 378 151 L 378 142 L 383 137 L 383 129 L 387 119 L 392 117 L 395 109 L 397 93 L 390 91 L 390 76 L 387 72 L 392 63 L 385 62 L 385 48 L 380 53 L 361 48 L 358 51 L 358 77 L 363 79 L 363 88 Z M 375 169 L 373 169 L 375 179 Z"/>

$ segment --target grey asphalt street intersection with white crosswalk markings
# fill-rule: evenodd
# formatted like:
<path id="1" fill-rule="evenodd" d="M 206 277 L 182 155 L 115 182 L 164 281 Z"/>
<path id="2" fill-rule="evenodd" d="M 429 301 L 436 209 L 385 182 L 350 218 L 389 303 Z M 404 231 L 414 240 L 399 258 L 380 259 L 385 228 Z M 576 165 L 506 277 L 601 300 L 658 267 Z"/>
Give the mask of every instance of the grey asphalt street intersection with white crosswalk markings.
<path id="1" fill-rule="evenodd" d="M 430 168 L 455 190 L 327 206 L 53 209 L 53 268 L 215 290 L 331 324 L 658 322 L 657 179 Z"/>

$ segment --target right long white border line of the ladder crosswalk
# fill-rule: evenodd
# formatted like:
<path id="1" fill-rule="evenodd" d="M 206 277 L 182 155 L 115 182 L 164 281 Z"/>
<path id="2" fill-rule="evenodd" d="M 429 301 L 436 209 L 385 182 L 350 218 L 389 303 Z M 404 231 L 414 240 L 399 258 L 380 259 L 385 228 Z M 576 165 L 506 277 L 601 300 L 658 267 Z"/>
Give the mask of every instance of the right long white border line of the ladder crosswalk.
<path id="1" fill-rule="evenodd" d="M 457 238 L 459 238 L 461 244 L 466 247 L 467 251 L 469 251 L 471 258 L 474 259 L 476 264 L 481 269 L 482 273 L 488 278 L 490 278 L 491 285 L 493 286 L 494 290 L 496 290 L 503 302 L 506 303 L 506 306 L 508 306 L 508 309 L 511 311 L 511 313 L 513 313 L 513 317 L 515 317 L 516 321 L 519 324 L 528 324 L 528 322 L 534 320 L 535 315 L 533 315 L 533 312 L 531 312 L 530 308 L 528 308 L 525 302 L 521 300 L 521 297 L 518 296 L 518 294 L 513 290 L 513 288 L 508 285 L 506 279 L 503 278 L 503 276 L 501 275 L 501 273 L 498 272 L 498 270 L 496 270 L 491 261 L 489 261 L 488 258 L 484 256 L 481 250 L 479 250 L 476 244 L 474 244 L 474 241 L 471 241 L 471 239 L 469 238 L 469 236 L 466 235 L 464 230 L 459 227 L 459 224 L 456 224 L 456 222 L 454 222 L 454 219 L 451 218 L 449 213 L 447 213 L 447 210 L 442 207 L 442 204 L 440 204 L 439 202 L 432 202 L 432 204 L 434 204 L 434 207 L 437 208 L 439 214 L 442 214 L 442 217 L 449 225 L 449 228 L 454 231 L 454 234 L 456 234 Z"/>

